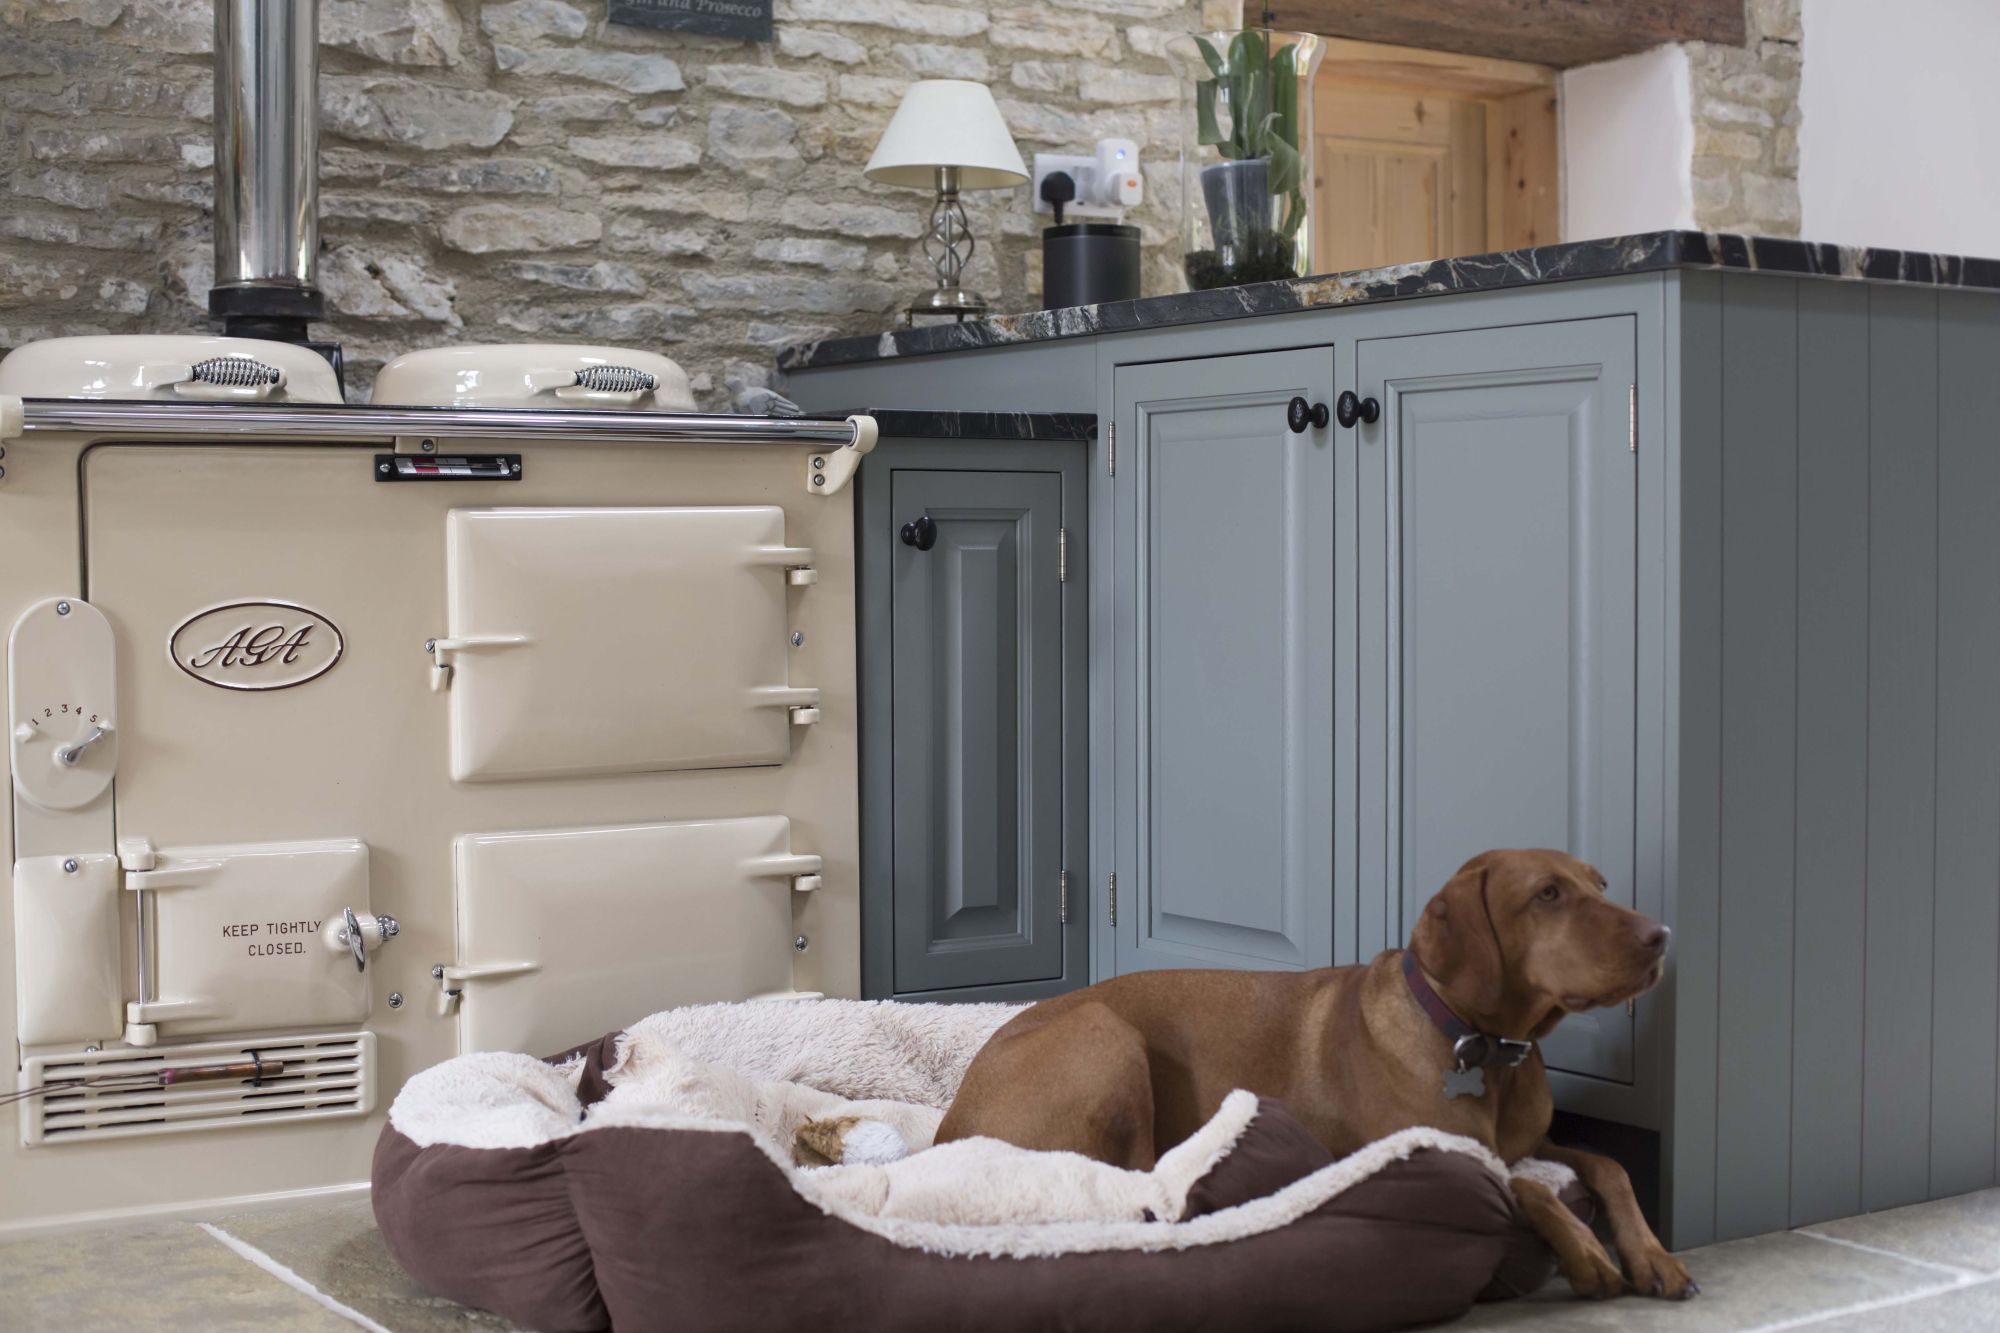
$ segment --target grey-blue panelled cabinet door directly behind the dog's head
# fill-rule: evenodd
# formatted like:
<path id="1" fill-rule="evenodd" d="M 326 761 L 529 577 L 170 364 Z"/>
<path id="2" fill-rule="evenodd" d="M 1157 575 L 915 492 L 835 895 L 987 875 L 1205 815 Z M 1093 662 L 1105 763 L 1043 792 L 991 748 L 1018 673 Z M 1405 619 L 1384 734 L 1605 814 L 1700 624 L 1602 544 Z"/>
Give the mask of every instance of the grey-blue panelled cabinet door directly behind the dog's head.
<path id="1" fill-rule="evenodd" d="M 1362 939 L 1398 947 L 1488 847 L 1560 847 L 1632 903 L 1632 318 L 1364 340 Z M 1380 897 L 1376 897 L 1380 887 Z M 1542 1043 L 1632 1081 L 1624 1009 Z"/>

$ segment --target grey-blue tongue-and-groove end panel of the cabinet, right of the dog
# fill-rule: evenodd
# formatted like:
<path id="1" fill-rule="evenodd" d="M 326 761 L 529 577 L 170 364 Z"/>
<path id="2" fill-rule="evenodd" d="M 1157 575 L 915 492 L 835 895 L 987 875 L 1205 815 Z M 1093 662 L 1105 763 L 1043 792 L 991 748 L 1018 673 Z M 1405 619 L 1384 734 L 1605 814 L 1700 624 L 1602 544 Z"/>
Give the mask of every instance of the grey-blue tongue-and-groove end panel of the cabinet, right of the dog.
<path id="1" fill-rule="evenodd" d="M 1690 1243 L 1996 1181 L 2000 300 L 1686 274 L 1682 328 Z"/>

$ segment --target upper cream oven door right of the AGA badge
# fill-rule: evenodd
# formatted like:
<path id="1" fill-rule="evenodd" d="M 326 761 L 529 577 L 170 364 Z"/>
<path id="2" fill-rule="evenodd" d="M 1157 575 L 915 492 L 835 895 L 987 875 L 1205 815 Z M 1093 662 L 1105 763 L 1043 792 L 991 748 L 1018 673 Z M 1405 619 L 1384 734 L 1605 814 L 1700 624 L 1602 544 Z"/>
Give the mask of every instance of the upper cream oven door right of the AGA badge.
<path id="1" fill-rule="evenodd" d="M 776 765 L 792 689 L 784 510 L 460 508 L 432 642 L 460 781 Z"/>

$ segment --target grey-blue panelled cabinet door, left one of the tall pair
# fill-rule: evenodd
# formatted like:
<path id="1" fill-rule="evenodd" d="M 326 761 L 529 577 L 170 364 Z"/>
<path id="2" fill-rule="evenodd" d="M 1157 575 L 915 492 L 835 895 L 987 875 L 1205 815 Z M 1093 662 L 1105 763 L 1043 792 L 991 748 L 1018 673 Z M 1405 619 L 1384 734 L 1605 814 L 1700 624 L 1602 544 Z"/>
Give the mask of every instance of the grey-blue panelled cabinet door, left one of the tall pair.
<path id="1" fill-rule="evenodd" d="M 1116 370 L 1118 973 L 1332 963 L 1338 428 L 1286 428 L 1332 372 Z"/>

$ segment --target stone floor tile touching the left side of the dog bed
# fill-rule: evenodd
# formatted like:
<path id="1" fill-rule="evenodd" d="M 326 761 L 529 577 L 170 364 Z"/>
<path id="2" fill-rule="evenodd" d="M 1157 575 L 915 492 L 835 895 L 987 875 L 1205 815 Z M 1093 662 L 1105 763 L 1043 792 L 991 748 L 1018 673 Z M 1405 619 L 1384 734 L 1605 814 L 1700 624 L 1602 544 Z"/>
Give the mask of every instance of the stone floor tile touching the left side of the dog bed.
<path id="1" fill-rule="evenodd" d="M 434 1297 L 410 1281 L 388 1257 L 366 1197 L 244 1209 L 206 1221 L 392 1333 L 516 1327 L 498 1315 Z"/>

